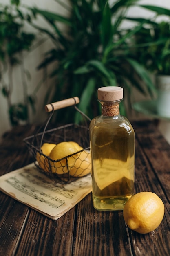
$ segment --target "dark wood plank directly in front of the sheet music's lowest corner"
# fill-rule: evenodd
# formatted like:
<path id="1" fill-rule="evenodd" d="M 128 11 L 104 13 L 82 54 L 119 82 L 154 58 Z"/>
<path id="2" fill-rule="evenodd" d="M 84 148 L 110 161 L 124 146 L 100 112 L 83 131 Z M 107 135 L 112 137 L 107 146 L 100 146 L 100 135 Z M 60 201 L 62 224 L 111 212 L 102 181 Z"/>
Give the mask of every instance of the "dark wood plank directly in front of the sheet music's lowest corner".
<path id="1" fill-rule="evenodd" d="M 71 256 L 75 208 L 58 220 L 31 210 L 16 256 Z"/>

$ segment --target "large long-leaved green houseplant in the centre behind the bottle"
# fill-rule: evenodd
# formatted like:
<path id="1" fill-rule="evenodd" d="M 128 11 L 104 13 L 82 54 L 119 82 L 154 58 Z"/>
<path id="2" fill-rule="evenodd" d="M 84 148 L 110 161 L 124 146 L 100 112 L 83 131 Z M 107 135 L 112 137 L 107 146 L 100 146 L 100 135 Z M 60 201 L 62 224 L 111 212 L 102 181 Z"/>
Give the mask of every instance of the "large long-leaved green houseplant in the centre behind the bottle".
<path id="1" fill-rule="evenodd" d="M 54 64 L 50 76 L 56 77 L 56 84 L 53 98 L 49 97 L 50 92 L 47 94 L 48 102 L 78 96 L 79 108 L 92 118 L 99 113 L 96 107 L 99 87 L 120 85 L 129 101 L 133 87 L 143 94 L 154 94 L 155 87 L 148 73 L 131 51 L 132 36 L 150 20 L 134 19 L 138 23 L 130 30 L 122 27 L 126 12 L 138 0 L 118 0 L 113 4 L 107 0 L 70 0 L 70 5 L 60 0 L 56 2 L 67 11 L 67 16 L 32 9 L 35 16 L 44 17 L 51 29 L 32 25 L 54 43 L 38 67 Z M 60 28 L 60 24 L 65 28 Z M 124 110 L 121 105 L 121 113 L 124 114 Z M 70 121 L 73 116 L 69 110 L 67 114 L 64 110 L 59 118 Z M 80 121 L 78 115 L 74 118 L 75 122 Z"/>

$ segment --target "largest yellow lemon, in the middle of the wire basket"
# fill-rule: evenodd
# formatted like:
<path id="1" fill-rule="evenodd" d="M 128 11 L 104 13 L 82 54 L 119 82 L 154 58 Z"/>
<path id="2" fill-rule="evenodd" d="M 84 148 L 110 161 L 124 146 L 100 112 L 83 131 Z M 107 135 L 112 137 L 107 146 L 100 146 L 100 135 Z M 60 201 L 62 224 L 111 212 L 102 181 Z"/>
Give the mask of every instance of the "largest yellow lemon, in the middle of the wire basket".
<path id="1" fill-rule="evenodd" d="M 57 174 L 68 173 L 69 168 L 68 168 L 66 159 L 62 159 L 62 158 L 65 158 L 65 157 L 72 155 L 76 152 L 77 152 L 77 149 L 75 148 L 75 146 L 73 146 L 69 142 L 63 141 L 63 142 L 60 142 L 59 144 L 57 144 L 51 150 L 49 157 L 52 160 L 60 160 L 60 159 L 61 160 L 58 162 L 50 161 L 52 173 L 57 173 Z M 75 154 L 75 157 L 77 157 L 76 154 Z M 72 157 L 68 157 L 68 159 L 72 159 Z"/>

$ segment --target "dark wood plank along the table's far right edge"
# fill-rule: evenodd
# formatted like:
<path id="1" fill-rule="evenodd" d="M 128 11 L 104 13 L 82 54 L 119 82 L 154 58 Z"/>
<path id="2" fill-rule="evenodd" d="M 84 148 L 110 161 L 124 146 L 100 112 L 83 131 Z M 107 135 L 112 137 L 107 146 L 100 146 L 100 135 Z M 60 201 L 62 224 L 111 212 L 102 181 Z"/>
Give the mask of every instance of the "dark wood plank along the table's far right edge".
<path id="1" fill-rule="evenodd" d="M 159 180 L 167 198 L 170 198 L 170 145 L 163 138 L 153 122 L 135 123 L 136 139 L 139 141 L 152 170 Z M 153 180 L 153 182 L 155 181 Z M 169 201 L 170 202 L 170 201 Z"/>

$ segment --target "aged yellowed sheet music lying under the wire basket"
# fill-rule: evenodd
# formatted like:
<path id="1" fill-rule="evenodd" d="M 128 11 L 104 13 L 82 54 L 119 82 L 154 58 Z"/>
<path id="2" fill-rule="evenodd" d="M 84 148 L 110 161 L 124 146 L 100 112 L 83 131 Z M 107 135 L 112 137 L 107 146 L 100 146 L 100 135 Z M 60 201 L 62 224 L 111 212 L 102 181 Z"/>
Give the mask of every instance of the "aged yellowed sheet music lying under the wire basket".
<path id="1" fill-rule="evenodd" d="M 57 220 L 91 192 L 91 175 L 55 185 L 34 163 L 0 177 L 0 190 Z"/>

